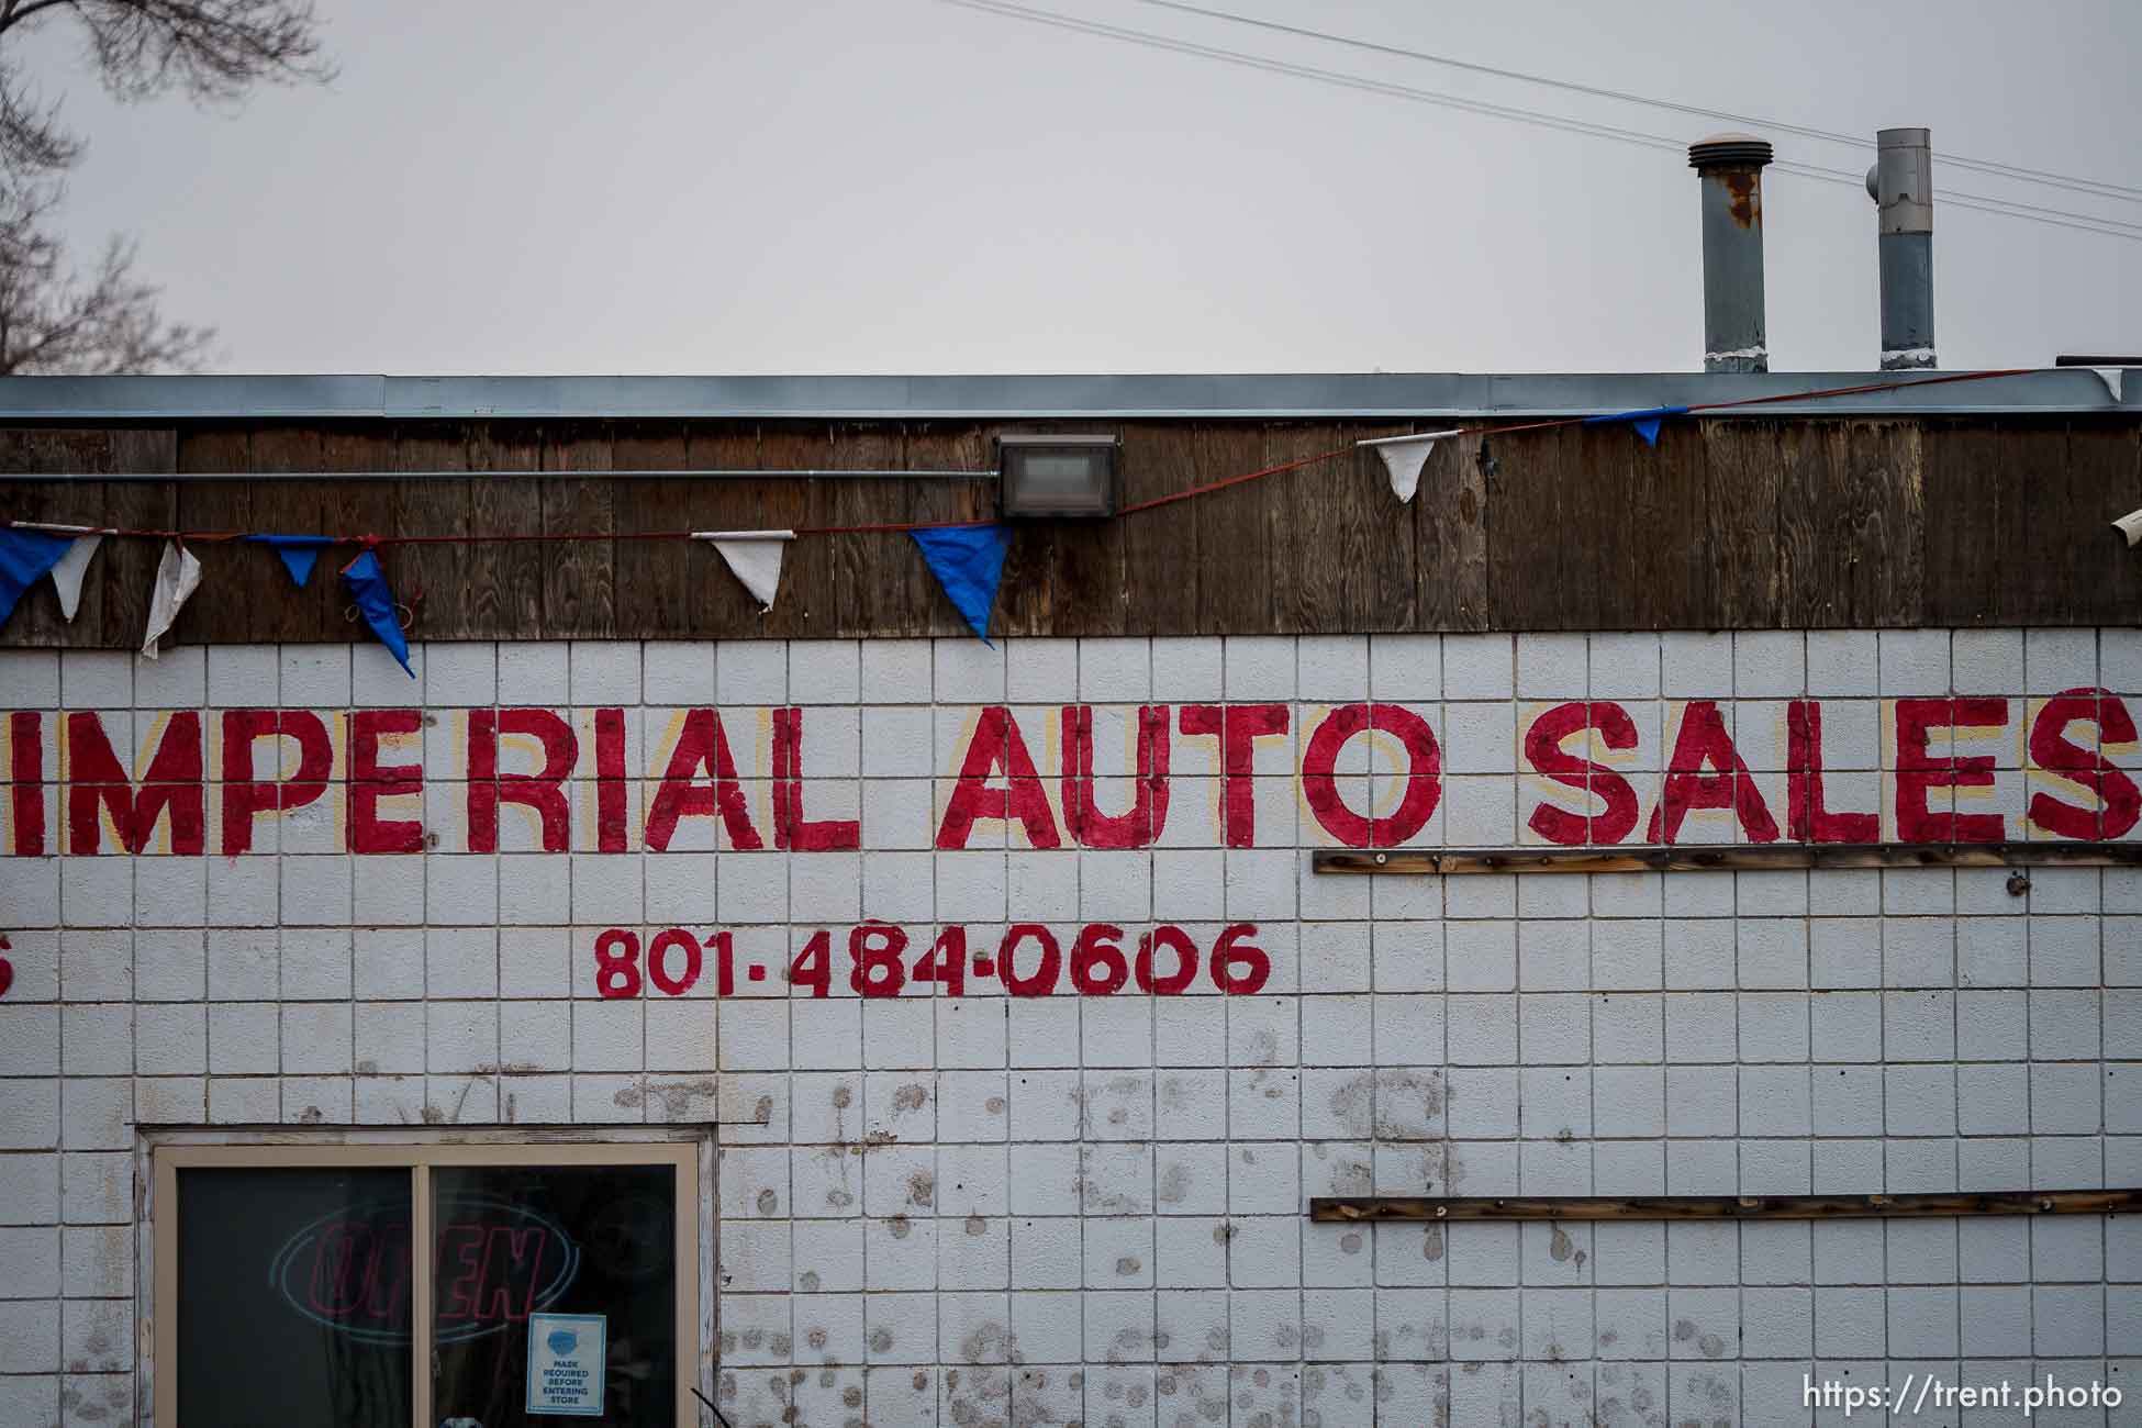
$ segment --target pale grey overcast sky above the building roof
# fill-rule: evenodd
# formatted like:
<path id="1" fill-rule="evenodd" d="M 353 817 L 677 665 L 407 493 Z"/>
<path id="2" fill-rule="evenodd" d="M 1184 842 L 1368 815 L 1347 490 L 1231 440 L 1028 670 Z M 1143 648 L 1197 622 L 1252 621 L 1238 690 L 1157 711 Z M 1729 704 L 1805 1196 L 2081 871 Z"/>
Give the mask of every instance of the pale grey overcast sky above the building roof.
<path id="1" fill-rule="evenodd" d="M 1022 0 L 1615 124 L 1722 124 L 1140 0 Z M 1936 186 L 2142 223 L 2142 4 L 1202 0 L 1866 135 Z M 90 139 L 66 227 L 135 233 L 231 373 L 1675 370 L 1701 366 L 1679 152 L 1071 34 L 945 0 L 321 0 L 341 77 L 116 105 L 26 43 Z M 1872 148 L 1771 135 L 1864 171 Z M 1876 358 L 1874 208 L 1771 171 L 1778 370 Z M 2142 242 L 1936 208 L 1945 368 L 2142 349 Z"/>

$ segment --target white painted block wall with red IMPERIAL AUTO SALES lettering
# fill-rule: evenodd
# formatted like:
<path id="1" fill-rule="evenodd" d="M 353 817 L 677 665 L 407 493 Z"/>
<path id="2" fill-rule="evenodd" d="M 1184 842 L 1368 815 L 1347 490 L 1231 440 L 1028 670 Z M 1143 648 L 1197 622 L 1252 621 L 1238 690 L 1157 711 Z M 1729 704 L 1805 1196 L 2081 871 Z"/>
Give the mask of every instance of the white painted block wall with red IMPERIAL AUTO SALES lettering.
<path id="1" fill-rule="evenodd" d="M 715 1122 L 720 1396 L 739 1426 L 1804 1424 L 1804 1374 L 2133 1387 L 2129 1220 L 1356 1229 L 1304 1210 L 1332 1192 L 2142 1184 L 2142 873 L 2041 867 L 2024 895 L 2005 871 L 1947 869 L 1319 878 L 1307 850 L 1341 835 L 1304 766 L 1334 709 L 1397 707 L 1326 764 L 1347 809 L 1394 820 L 1388 841 L 1542 841 L 1540 805 L 1596 833 L 1609 775 L 1643 841 L 1705 704 L 1795 837 L 1791 707 L 1812 700 L 1825 807 L 1872 814 L 1881 839 L 1951 809 L 2054 837 L 2035 814 L 2052 805 L 2133 839 L 2108 811 L 2127 773 L 2073 775 L 2142 764 L 2116 728 L 2142 713 L 2136 632 L 413 653 L 418 681 L 373 647 L 0 653 L 0 1426 L 135 1411 L 137 1126 Z M 2116 698 L 2046 713 L 2091 689 Z M 1527 754 L 1570 702 L 1630 730 L 1581 719 L 1555 743 L 1598 764 L 1574 784 Z M 1146 736 L 1167 747 L 1165 820 L 1116 837 L 1146 846 L 1077 846 L 1065 704 L 1092 707 L 1103 816 L 1137 799 L 1137 707 L 1167 707 Z M 1249 736 L 1272 717 L 1242 715 L 1230 769 L 1234 713 L 1185 726 L 1185 707 L 1219 704 L 1281 707 L 1285 730 Z M 416 732 L 360 734 L 351 713 L 411 707 Z M 703 766 L 707 796 L 673 790 L 651 850 L 685 711 L 707 707 L 760 848 Z M 962 790 L 992 707 L 1035 781 L 1002 792 L 996 766 Z M 332 771 L 300 807 L 233 811 L 233 784 L 293 777 L 304 754 L 304 719 L 270 724 L 233 766 L 225 713 L 251 709 L 317 715 Z M 503 799 L 493 850 L 469 779 L 471 711 L 495 709 L 559 715 L 572 766 L 557 826 Z M 96 749 L 73 715 L 141 779 L 191 728 L 178 711 L 206 711 L 199 852 L 165 814 L 126 854 L 96 801 L 77 833 L 69 788 Z M 540 736 L 482 719 L 501 775 L 542 769 Z M 1437 760 L 1418 826 L 1412 719 Z M 1926 777 L 1947 758 L 1992 777 L 1954 792 Z M 1686 784 L 1681 841 L 1748 841 L 1746 807 L 1705 807 L 1720 788 Z M 975 818 L 942 848 L 955 807 Z M 223 856 L 233 820 L 246 852 Z M 358 822 L 420 822 L 424 850 L 353 854 Z M 1035 846 L 1043 824 L 1056 846 Z M 778 846 L 810 837 L 833 848 Z M 863 918 L 908 938 L 900 996 L 850 989 Z M 1054 993 L 979 972 L 1013 923 L 1058 940 Z M 1092 923 L 1120 925 L 1127 957 L 1180 927 L 1189 985 L 1077 996 Z M 1242 923 L 1268 981 L 1221 996 L 1206 955 Z M 703 946 L 690 985 L 677 942 L 651 974 L 668 927 Z M 947 927 L 966 936 L 964 996 L 912 976 Z M 636 996 L 600 996 L 613 929 L 638 944 Z M 820 929 L 825 998 L 784 978 Z M 1013 978 L 1037 959 L 1028 938 Z"/>

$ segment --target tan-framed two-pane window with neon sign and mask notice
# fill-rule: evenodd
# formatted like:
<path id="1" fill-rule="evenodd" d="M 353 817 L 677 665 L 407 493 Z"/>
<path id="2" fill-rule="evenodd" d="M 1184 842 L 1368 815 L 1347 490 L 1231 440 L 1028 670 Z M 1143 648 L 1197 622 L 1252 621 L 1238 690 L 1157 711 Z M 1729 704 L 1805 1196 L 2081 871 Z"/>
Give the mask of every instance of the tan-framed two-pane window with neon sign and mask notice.
<path id="1" fill-rule="evenodd" d="M 159 1428 L 700 1422 L 696 1141 L 152 1154 Z"/>

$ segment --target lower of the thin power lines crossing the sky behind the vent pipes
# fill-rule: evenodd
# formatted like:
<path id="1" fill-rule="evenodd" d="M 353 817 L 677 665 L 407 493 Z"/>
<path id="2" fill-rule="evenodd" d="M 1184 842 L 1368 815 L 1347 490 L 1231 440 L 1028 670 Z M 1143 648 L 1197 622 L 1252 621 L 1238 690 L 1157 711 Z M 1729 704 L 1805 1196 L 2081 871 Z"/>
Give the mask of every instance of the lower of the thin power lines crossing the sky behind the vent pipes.
<path id="1" fill-rule="evenodd" d="M 1221 64 L 1238 64 L 1242 69 L 1255 69 L 1270 75 L 1289 75 L 1296 79 L 1315 79 L 1319 83 L 1330 83 L 1347 90 L 1362 90 L 1369 94 L 1384 94 L 1388 98 L 1405 98 L 1422 105 L 1437 105 L 1444 109 L 1461 109 L 1467 113 L 1482 113 L 1489 118 L 1514 120 L 1519 124 L 1536 124 L 1542 128 L 1557 128 L 1564 133 L 1587 135 L 1594 139 L 1613 139 L 1619 143 L 1636 143 L 1643 148 L 1662 150 L 1669 154 L 1686 152 L 1679 139 L 1669 135 L 1654 135 L 1641 128 L 1624 128 L 1619 124 L 1598 124 L 1592 120 L 1574 120 L 1559 113 L 1547 113 L 1542 109 L 1527 109 L 1521 105 L 1495 105 L 1480 98 L 1461 98 L 1457 94 L 1446 94 L 1442 90 L 1422 90 L 1390 79 L 1369 79 L 1367 75 L 1352 75 L 1334 69 L 1319 69 L 1315 64 L 1296 64 L 1289 60 L 1272 60 L 1268 56 L 1249 54 L 1242 49 L 1225 49 L 1219 45 L 1204 45 L 1197 41 L 1185 41 L 1170 34 L 1157 34 L 1152 30 L 1133 30 L 1129 26 L 1112 26 L 1099 19 L 1080 19 L 1073 15 L 1058 15 L 1056 11 L 1030 9 L 1024 4 L 1013 4 L 1011 0 L 945 0 L 945 4 L 955 4 L 968 11 L 981 11 L 987 15 L 998 15 L 1005 19 L 1024 19 L 1028 24 L 1052 26 L 1058 30 L 1071 30 L 1075 34 L 1092 34 L 1101 39 L 1122 41 L 1129 45 L 1142 45 L 1148 49 L 1167 49 L 1174 54 L 1197 56 L 1204 60 L 1217 60 Z M 1782 173 L 1795 178 L 1814 178 L 1831 184 L 1844 184 L 1846 188 L 1864 188 L 1864 178 L 1851 173 L 1849 169 L 1831 169 L 1812 163 L 1780 161 L 1771 165 Z M 1983 193 L 1958 193 L 1949 191 L 1941 197 L 1943 203 L 1956 208 L 1971 208 L 1977 212 L 2001 214 L 2007 218 L 2024 218 L 2031 223 L 2048 223 L 2052 227 L 2076 229 L 2080 233 L 2103 233 L 2106 238 L 2125 238 L 2129 242 L 2142 242 L 2142 225 L 2127 223 L 2123 218 L 2099 218 L 2095 214 L 2076 214 L 2058 208 L 2041 208 L 2037 203 L 2022 203 L 2016 199 L 1998 199 Z"/>

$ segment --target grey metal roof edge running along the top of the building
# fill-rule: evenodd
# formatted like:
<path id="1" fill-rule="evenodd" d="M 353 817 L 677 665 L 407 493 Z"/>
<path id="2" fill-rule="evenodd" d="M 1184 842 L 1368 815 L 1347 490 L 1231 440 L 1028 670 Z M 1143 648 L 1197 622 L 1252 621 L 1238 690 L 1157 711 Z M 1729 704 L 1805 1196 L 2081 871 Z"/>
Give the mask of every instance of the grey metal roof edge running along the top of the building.
<path id="1" fill-rule="evenodd" d="M 1936 373 L 1930 373 L 1936 375 Z M 1939 373 L 1954 377 L 1954 373 Z M 1133 420 L 1562 417 L 1909 381 L 1898 373 L 1245 373 L 947 377 L 4 377 L 0 422 L 304 420 Z M 2142 411 L 2091 368 L 1928 392 L 1756 407 L 1763 415 Z"/>

